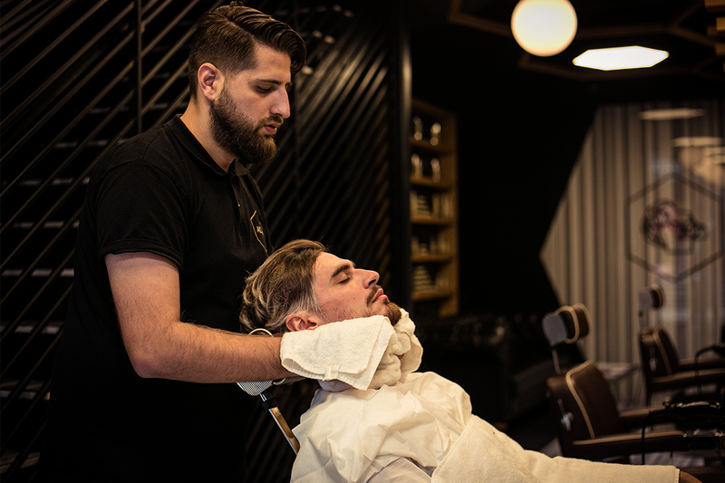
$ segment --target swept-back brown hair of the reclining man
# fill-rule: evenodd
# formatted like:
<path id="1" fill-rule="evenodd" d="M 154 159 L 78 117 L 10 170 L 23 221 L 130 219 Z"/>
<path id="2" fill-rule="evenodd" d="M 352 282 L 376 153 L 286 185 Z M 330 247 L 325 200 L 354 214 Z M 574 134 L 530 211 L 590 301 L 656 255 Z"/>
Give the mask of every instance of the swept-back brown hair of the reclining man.
<path id="1" fill-rule="evenodd" d="M 270 255 L 247 277 L 242 293 L 239 321 L 244 332 L 264 328 L 271 333 L 285 332 L 287 316 L 296 313 L 320 314 L 314 296 L 314 264 L 327 249 L 310 240 L 295 240 Z"/>

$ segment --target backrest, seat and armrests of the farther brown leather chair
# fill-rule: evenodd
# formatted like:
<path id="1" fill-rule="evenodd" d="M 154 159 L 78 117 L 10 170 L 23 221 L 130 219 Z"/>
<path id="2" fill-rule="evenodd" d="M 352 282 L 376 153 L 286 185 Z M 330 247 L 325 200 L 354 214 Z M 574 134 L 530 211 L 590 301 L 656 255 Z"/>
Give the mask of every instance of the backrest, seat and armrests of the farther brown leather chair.
<path id="1" fill-rule="evenodd" d="M 718 385 L 718 391 L 709 395 L 698 393 L 693 398 L 722 402 L 725 357 L 680 359 L 670 335 L 660 325 L 640 331 L 639 345 L 648 403 L 652 401 L 654 393 L 662 391 L 673 393 L 673 401 L 687 401 L 688 398 L 682 395 L 687 388 L 701 388 L 702 385 L 712 383 Z M 700 353 L 719 348 L 720 344 L 716 344 Z"/>

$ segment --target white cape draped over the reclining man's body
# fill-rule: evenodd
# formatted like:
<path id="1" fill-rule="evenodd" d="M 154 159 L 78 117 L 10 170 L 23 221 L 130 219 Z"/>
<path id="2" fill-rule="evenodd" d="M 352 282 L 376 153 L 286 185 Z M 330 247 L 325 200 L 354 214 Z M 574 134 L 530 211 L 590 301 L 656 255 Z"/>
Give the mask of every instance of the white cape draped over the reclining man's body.
<path id="1" fill-rule="evenodd" d="M 362 330 L 369 331 L 369 319 L 359 319 Z M 293 430 L 300 441 L 293 482 L 677 483 L 674 467 L 552 459 L 521 448 L 471 414 L 469 395 L 458 384 L 434 372 L 406 370 L 418 368 L 422 353 L 411 327 L 403 311 L 382 355 L 384 377 L 373 377 L 370 389 L 321 382 L 324 389 Z"/>

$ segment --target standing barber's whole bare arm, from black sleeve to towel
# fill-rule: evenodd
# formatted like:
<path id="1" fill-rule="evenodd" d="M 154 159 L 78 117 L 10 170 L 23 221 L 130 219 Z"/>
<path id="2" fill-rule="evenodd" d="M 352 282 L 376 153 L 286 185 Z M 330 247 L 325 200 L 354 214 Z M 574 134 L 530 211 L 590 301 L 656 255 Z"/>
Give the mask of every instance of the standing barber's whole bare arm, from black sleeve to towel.
<path id="1" fill-rule="evenodd" d="M 179 269 L 168 259 L 128 253 L 105 261 L 123 344 L 141 377 L 239 382 L 292 375 L 280 363 L 278 338 L 181 322 Z"/>

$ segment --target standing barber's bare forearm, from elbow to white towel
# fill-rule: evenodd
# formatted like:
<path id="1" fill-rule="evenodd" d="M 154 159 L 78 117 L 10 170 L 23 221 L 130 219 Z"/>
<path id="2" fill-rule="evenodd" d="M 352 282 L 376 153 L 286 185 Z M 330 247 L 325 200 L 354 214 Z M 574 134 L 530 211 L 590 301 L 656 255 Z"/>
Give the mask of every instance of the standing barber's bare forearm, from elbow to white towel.
<path id="1" fill-rule="evenodd" d="M 295 375 L 282 367 L 280 340 L 177 322 L 169 324 L 156 343 L 127 343 L 127 352 L 134 370 L 144 378 L 269 381 Z"/>

